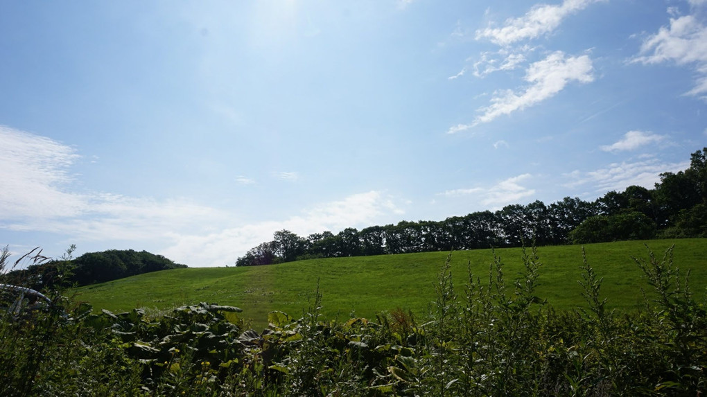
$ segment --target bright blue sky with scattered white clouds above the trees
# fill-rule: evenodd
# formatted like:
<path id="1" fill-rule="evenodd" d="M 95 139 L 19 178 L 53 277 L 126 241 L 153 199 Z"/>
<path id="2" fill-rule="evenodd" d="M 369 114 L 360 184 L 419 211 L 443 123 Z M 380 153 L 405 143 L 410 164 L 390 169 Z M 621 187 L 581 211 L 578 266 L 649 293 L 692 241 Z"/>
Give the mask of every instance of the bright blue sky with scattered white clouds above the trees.
<path id="1" fill-rule="evenodd" d="M 707 0 L 4 1 L 0 245 L 232 264 L 707 146 Z"/>

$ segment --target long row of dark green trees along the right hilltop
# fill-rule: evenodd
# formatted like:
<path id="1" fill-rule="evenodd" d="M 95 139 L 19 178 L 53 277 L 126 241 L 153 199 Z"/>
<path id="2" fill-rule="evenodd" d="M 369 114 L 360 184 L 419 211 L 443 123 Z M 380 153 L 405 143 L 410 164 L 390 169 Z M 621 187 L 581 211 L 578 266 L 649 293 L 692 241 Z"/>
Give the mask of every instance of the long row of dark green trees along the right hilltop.
<path id="1" fill-rule="evenodd" d="M 402 221 L 362 230 L 347 227 L 337 234 L 325 231 L 300 237 L 280 230 L 235 264 L 520 247 L 524 239 L 560 245 L 675 237 L 707 237 L 707 147 L 691 154 L 687 170 L 660 174 L 654 189 L 633 185 L 595 201 L 576 197 L 549 205 L 534 201 L 441 221 Z"/>

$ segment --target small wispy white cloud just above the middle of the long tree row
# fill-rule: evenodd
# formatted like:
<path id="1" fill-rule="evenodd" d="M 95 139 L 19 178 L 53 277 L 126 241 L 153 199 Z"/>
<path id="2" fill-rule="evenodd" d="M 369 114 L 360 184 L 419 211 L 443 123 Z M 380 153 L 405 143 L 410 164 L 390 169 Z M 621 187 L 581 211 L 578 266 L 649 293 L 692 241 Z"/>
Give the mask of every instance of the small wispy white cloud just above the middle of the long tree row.
<path id="1" fill-rule="evenodd" d="M 522 186 L 521 182 L 532 178 L 531 174 L 521 174 L 508 178 L 489 188 L 474 187 L 470 189 L 454 189 L 440 193 L 441 196 L 476 196 L 486 208 L 501 208 L 510 203 L 517 203 L 521 198 L 535 194 L 534 189 Z"/>

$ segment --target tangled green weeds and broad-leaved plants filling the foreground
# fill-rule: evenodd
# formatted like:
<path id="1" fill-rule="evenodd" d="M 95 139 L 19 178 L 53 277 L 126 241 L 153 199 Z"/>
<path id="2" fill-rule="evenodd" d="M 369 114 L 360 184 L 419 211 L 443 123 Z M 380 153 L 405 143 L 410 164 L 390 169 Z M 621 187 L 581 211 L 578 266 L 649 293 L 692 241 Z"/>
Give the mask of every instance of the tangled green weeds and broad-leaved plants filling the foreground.
<path id="1" fill-rule="evenodd" d="M 590 262 L 587 302 L 555 312 L 536 294 L 542 263 L 528 249 L 509 280 L 501 258 L 464 285 L 449 261 L 428 316 L 325 321 L 315 294 L 300 319 L 271 312 L 263 332 L 239 309 L 202 303 L 158 319 L 90 314 L 59 293 L 45 310 L 5 313 L 1 395 L 506 396 L 697 395 L 707 388 L 707 316 L 672 263 L 636 264 L 651 290 L 637 313 L 607 310 Z M 699 300 L 703 302 L 703 300 Z"/>

